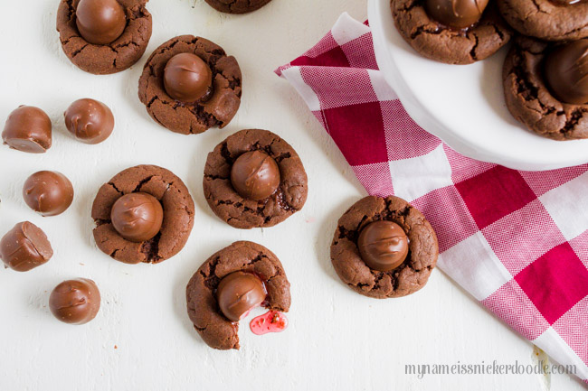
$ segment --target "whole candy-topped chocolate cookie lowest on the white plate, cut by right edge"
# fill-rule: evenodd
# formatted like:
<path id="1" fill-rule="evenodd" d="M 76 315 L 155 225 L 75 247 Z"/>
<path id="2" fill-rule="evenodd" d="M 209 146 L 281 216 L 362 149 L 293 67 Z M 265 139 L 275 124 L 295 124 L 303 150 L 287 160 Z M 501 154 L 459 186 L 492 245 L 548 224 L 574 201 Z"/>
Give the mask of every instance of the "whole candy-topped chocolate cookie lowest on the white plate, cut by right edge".
<path id="1" fill-rule="evenodd" d="M 502 71 L 510 113 L 537 135 L 588 138 L 587 40 L 545 42 L 519 36 Z"/>

